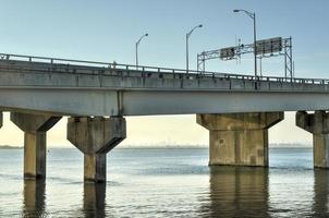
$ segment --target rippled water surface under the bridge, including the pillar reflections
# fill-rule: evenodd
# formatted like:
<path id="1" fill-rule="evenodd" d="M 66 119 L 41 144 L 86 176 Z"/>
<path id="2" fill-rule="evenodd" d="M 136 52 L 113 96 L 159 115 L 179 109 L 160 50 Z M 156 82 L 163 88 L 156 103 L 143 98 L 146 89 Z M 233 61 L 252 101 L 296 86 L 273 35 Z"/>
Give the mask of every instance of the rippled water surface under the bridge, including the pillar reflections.
<path id="1" fill-rule="evenodd" d="M 329 172 L 312 149 L 270 149 L 270 168 L 207 166 L 207 149 L 114 149 L 108 182 L 84 184 L 77 149 L 50 149 L 46 182 L 0 150 L 0 217 L 329 217 Z"/>

